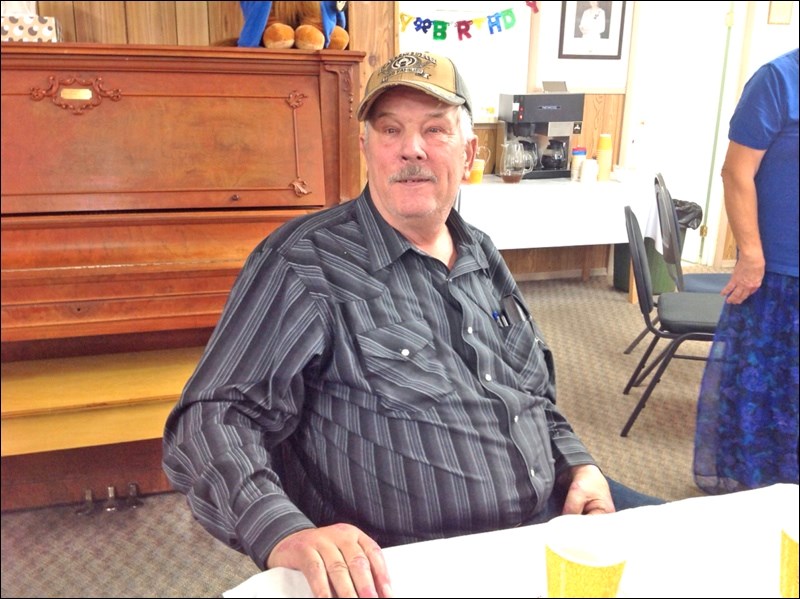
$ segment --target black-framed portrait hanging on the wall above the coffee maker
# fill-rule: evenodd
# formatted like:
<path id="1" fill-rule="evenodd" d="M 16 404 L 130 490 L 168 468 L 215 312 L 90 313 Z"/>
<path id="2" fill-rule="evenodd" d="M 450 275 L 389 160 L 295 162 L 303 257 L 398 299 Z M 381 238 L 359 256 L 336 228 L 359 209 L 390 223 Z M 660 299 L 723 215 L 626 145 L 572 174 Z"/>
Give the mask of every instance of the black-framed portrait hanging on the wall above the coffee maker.
<path id="1" fill-rule="evenodd" d="M 562 2 L 559 58 L 619 60 L 627 2 Z"/>

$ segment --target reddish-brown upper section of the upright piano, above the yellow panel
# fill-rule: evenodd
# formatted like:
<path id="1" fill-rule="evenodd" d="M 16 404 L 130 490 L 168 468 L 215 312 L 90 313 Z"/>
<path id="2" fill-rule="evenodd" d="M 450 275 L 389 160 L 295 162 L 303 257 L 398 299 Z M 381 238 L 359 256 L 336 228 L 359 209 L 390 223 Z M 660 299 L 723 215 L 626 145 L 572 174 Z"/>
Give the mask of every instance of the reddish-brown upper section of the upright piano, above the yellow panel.
<path id="1" fill-rule="evenodd" d="M 261 239 L 360 191 L 363 56 L 4 43 L 4 359 L 212 327 Z"/>

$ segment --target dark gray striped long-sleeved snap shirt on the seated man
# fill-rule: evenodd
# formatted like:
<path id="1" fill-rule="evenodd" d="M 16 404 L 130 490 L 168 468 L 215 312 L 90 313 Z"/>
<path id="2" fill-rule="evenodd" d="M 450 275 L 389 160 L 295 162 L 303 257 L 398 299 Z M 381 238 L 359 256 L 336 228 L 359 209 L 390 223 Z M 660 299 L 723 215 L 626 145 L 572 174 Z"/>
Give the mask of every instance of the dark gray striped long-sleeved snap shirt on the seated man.
<path id="1" fill-rule="evenodd" d="M 447 224 L 450 271 L 367 191 L 247 259 L 167 421 L 164 468 L 261 568 L 314 525 L 390 546 L 530 522 L 557 474 L 594 463 L 536 325 L 493 316 L 522 302 L 502 256 L 455 210 Z"/>

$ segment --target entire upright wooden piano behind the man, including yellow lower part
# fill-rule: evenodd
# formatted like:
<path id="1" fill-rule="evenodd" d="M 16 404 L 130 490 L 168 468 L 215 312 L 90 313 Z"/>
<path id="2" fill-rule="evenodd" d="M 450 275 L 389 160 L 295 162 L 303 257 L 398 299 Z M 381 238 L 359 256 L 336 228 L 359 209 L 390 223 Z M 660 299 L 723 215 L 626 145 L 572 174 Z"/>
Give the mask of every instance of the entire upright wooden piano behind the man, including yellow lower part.
<path id="1" fill-rule="evenodd" d="M 360 191 L 363 56 L 2 44 L 3 509 L 166 489 L 164 418 L 244 259 Z"/>

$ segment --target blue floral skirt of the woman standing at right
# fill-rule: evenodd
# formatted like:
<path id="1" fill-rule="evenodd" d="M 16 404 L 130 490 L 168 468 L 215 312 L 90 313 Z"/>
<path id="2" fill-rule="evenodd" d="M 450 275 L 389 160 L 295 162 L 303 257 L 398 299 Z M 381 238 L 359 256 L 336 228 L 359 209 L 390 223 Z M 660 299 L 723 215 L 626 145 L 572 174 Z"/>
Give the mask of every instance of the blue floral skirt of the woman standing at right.
<path id="1" fill-rule="evenodd" d="M 798 483 L 798 279 L 725 304 L 697 405 L 694 478 L 719 494 Z"/>

